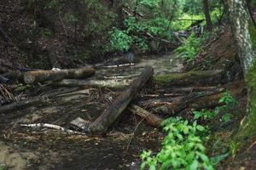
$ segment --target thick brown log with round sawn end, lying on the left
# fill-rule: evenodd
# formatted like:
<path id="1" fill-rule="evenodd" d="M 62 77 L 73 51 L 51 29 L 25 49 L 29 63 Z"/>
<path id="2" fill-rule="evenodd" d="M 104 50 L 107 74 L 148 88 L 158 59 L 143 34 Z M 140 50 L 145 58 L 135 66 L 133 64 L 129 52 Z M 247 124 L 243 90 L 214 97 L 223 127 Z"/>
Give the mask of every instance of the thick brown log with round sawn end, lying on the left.
<path id="1" fill-rule="evenodd" d="M 24 74 L 24 82 L 32 84 L 34 82 L 59 81 L 64 78 L 84 78 L 95 74 L 95 71 L 93 68 L 28 71 Z"/>

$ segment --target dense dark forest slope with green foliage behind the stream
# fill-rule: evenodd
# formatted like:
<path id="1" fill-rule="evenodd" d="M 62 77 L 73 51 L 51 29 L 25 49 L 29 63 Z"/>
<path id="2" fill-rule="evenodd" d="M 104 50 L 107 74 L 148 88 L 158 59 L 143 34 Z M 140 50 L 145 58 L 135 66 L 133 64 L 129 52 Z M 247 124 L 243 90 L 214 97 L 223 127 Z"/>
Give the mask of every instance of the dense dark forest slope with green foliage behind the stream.
<path id="1" fill-rule="evenodd" d="M 177 31 L 206 25 L 201 1 L 24 0 L 1 7 L 1 27 L 12 41 L 2 43 L 2 53 L 36 68 L 49 68 L 51 53 L 64 68 L 129 50 L 155 53 L 177 46 Z M 223 20 L 220 1 L 209 10 L 213 25 Z"/>

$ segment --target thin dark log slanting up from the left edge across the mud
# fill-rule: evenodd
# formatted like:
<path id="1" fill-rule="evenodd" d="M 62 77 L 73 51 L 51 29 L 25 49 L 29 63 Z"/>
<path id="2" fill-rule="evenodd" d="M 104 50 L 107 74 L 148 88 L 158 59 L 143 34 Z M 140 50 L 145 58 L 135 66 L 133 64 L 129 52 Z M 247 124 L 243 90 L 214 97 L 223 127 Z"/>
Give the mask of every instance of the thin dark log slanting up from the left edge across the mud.
<path id="1" fill-rule="evenodd" d="M 54 97 L 57 97 L 60 94 L 67 94 L 67 93 L 71 93 L 71 92 L 74 92 L 74 91 L 77 91 L 77 90 L 78 90 L 78 88 L 71 88 L 71 89 L 63 90 L 61 92 L 55 92 L 55 93 L 52 93 L 52 94 L 45 94 L 43 96 L 37 96 L 37 97 L 32 97 L 31 99 L 26 99 L 26 100 L 22 100 L 22 101 L 13 102 L 11 104 L 1 106 L 0 107 L 0 113 L 7 114 L 9 111 L 16 111 L 18 109 L 25 108 L 29 105 L 36 105 L 38 103 L 44 102 L 44 100 L 47 100 L 49 98 L 54 98 Z"/>

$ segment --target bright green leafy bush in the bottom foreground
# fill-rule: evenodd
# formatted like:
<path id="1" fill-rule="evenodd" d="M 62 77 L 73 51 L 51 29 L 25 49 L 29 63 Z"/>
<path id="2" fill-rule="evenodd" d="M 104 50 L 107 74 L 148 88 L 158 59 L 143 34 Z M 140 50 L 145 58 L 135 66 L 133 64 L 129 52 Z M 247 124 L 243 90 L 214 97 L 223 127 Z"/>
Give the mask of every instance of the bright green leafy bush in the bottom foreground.
<path id="1" fill-rule="evenodd" d="M 167 133 L 161 150 L 152 156 L 152 151 L 143 151 L 141 169 L 213 169 L 205 153 L 200 133 L 205 127 L 194 122 L 189 125 L 179 117 L 170 118 L 163 122 Z"/>

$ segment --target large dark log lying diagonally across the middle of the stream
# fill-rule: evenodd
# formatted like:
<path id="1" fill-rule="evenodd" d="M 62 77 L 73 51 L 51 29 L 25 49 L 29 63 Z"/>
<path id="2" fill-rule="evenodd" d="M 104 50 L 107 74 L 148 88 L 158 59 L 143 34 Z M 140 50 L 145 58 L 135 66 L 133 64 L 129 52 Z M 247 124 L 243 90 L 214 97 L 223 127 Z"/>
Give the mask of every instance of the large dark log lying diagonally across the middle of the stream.
<path id="1" fill-rule="evenodd" d="M 127 88 L 123 93 L 114 99 L 113 104 L 105 110 L 101 116 L 99 116 L 95 122 L 90 124 L 88 128 L 90 133 L 104 134 L 107 132 L 108 127 L 110 127 L 113 122 L 121 115 L 125 110 L 127 105 L 130 104 L 131 99 L 133 99 L 140 88 L 148 82 L 149 78 L 154 74 L 154 70 L 151 66 L 147 66 L 142 74 L 137 77 L 136 80 L 131 82 L 129 88 Z"/>

